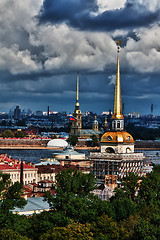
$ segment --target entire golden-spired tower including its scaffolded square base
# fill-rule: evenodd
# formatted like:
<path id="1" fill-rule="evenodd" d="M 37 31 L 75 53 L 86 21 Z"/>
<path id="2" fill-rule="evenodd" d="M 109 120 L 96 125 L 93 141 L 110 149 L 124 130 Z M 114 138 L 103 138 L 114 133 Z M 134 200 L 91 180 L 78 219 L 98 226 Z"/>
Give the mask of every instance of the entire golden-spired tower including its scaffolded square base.
<path id="1" fill-rule="evenodd" d="M 143 153 L 134 152 L 134 139 L 124 130 L 124 117 L 121 108 L 121 85 L 119 49 L 117 42 L 117 74 L 114 96 L 114 112 L 111 117 L 112 129 L 103 134 L 100 141 L 100 152 L 90 153 L 91 168 L 97 180 L 115 188 L 117 179 L 129 172 L 143 175 L 145 157 Z"/>

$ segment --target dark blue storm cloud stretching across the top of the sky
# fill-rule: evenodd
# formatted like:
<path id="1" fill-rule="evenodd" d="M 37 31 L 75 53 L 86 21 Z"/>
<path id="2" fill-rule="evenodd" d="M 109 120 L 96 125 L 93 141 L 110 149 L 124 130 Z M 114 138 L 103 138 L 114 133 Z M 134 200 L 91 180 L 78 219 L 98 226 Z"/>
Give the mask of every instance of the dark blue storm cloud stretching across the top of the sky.
<path id="1" fill-rule="evenodd" d="M 159 18 L 159 9 L 151 12 L 144 5 L 128 0 L 124 8 L 96 13 L 96 0 L 44 0 L 40 22 L 62 23 L 81 30 L 114 30 L 147 26 Z"/>

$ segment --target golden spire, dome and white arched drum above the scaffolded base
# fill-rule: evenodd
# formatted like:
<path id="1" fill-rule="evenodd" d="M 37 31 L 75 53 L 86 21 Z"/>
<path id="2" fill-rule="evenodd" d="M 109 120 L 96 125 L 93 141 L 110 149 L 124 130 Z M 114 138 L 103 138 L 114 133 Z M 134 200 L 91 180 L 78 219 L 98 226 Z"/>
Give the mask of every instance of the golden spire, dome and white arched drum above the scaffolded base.
<path id="1" fill-rule="evenodd" d="M 112 129 L 103 134 L 101 138 L 101 152 L 107 153 L 133 153 L 134 139 L 124 131 L 124 117 L 121 106 L 121 83 L 119 49 L 120 41 L 117 41 L 117 73 L 114 95 L 114 111 L 111 117 Z"/>

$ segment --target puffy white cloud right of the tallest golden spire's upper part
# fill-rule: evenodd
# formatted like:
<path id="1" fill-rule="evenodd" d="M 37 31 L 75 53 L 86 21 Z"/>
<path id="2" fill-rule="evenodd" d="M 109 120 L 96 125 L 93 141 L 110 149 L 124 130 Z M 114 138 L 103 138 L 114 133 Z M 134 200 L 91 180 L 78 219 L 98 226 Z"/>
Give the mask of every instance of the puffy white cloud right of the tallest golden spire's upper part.
<path id="1" fill-rule="evenodd" d="M 126 60 L 135 71 L 140 73 L 159 72 L 160 62 L 160 29 L 153 26 L 150 29 L 140 29 L 139 41 L 129 39 L 125 48 Z"/>

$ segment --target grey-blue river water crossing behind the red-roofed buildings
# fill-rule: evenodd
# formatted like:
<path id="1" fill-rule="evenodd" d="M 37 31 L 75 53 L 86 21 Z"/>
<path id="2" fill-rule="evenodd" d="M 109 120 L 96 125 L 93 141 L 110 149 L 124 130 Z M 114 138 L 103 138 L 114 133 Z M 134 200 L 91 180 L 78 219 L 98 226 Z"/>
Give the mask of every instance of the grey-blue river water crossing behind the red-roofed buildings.
<path id="1" fill-rule="evenodd" d="M 39 163 L 41 158 L 52 158 L 52 153 L 59 152 L 53 149 L 0 149 L 1 153 L 7 153 L 14 159 L 23 160 L 26 162 Z M 79 151 L 86 153 L 88 151 Z M 136 151 L 137 152 L 137 151 Z M 143 150 L 145 156 L 150 157 L 154 164 L 160 164 L 160 150 Z"/>

